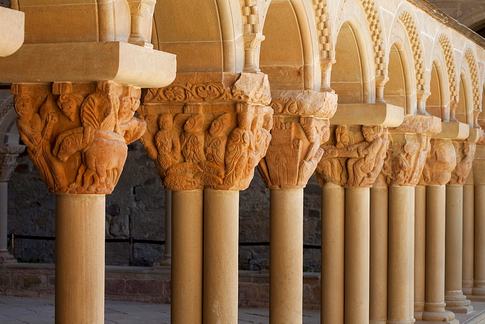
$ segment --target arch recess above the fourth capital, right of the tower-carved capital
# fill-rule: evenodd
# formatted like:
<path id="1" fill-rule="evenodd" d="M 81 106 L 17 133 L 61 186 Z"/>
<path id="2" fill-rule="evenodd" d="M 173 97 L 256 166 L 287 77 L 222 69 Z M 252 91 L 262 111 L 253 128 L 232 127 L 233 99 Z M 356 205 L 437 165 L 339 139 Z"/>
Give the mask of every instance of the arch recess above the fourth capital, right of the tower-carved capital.
<path id="1" fill-rule="evenodd" d="M 335 43 L 336 63 L 332 67 L 331 87 L 341 103 L 371 103 L 372 72 L 366 41 L 355 19 L 343 22 Z"/>

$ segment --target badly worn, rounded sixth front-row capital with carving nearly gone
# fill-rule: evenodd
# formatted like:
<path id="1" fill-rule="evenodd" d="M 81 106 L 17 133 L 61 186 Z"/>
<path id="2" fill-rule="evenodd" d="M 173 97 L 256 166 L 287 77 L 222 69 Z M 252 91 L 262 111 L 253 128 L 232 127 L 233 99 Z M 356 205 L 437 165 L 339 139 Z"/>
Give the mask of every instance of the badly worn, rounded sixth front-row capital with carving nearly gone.
<path id="1" fill-rule="evenodd" d="M 455 167 L 456 154 L 452 141 L 433 138 L 419 184 L 443 186 L 450 182 Z"/>

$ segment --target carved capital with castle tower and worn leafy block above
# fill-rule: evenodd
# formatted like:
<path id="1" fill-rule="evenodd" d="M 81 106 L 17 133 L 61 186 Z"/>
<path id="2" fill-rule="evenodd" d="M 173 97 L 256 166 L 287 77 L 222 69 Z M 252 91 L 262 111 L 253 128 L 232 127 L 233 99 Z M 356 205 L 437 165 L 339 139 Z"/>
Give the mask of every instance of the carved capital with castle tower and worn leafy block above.
<path id="1" fill-rule="evenodd" d="M 304 188 L 323 156 L 337 95 L 317 91 L 272 91 L 271 143 L 258 170 L 268 188 Z"/>

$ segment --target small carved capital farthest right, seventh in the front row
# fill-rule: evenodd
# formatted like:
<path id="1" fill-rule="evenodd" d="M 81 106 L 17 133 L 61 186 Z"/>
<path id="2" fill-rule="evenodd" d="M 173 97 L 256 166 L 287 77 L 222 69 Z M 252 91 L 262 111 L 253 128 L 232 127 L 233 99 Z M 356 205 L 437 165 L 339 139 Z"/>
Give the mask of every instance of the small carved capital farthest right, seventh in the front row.
<path id="1" fill-rule="evenodd" d="M 449 184 L 464 185 L 473 166 L 477 144 L 453 141 L 453 146 L 456 154 L 456 167 L 452 172 Z"/>

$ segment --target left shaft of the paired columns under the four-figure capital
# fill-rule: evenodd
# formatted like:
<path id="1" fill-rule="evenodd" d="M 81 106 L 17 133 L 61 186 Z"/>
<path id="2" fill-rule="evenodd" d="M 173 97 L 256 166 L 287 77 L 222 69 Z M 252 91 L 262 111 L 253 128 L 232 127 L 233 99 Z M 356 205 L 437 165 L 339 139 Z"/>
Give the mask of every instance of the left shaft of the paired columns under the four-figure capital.
<path id="1" fill-rule="evenodd" d="M 202 323 L 204 191 L 171 192 L 171 322 Z"/>

